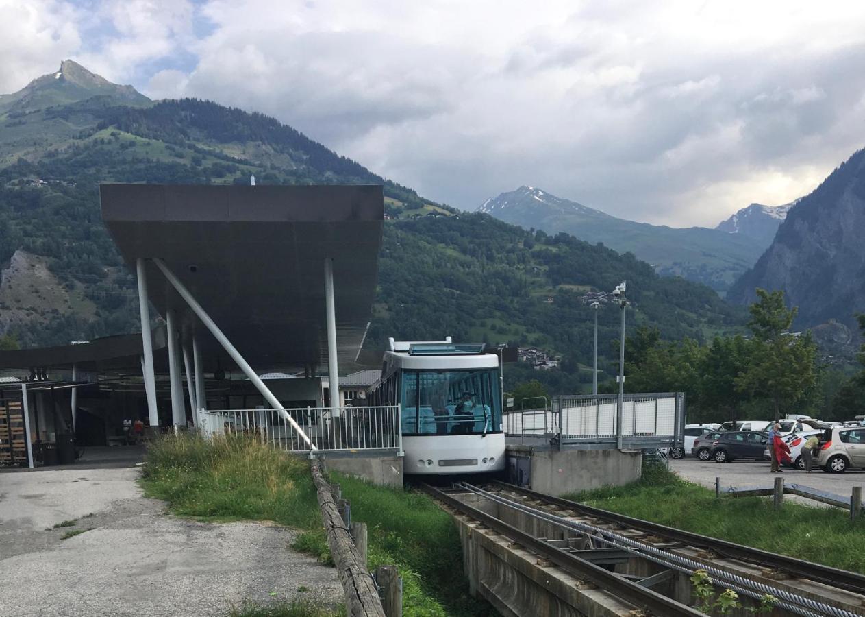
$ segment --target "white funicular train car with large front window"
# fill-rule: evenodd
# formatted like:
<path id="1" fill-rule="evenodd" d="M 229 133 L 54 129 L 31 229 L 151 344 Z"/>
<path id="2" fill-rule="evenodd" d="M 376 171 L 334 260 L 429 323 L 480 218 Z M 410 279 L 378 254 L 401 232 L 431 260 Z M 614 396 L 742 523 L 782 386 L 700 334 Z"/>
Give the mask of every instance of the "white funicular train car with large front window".
<path id="1" fill-rule="evenodd" d="M 389 339 L 371 405 L 401 408 L 406 474 L 504 469 L 498 357 L 483 344 Z"/>

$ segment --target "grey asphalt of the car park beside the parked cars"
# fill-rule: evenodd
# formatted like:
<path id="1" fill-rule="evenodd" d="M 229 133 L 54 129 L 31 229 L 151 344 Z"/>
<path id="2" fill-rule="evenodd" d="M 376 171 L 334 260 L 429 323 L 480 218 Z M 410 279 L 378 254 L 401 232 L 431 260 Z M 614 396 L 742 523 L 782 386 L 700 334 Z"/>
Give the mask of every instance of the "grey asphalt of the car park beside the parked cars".
<path id="1" fill-rule="evenodd" d="M 734 460 L 732 463 L 701 462 L 693 458 L 671 460 L 670 469 L 692 482 L 714 489 L 714 478 L 721 478 L 721 487 L 771 486 L 776 474 L 769 472 L 769 463 Z M 815 470 L 811 473 L 784 470 L 785 483 L 811 486 L 821 491 L 834 492 L 849 497 L 855 485 L 865 486 L 865 471 L 850 470 L 843 473 L 827 473 Z M 785 499 L 788 497 L 785 497 Z M 789 498 L 792 498 L 790 496 Z M 800 501 L 800 498 L 795 500 Z M 816 501 L 801 500 L 800 503 L 820 505 Z"/>

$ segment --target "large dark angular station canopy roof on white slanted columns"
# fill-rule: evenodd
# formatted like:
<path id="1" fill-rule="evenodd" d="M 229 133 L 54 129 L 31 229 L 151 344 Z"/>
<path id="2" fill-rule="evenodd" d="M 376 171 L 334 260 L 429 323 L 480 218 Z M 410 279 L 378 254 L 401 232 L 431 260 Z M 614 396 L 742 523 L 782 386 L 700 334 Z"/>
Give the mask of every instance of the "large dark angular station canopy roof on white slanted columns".
<path id="1" fill-rule="evenodd" d="M 378 272 L 381 186 L 101 184 L 102 218 L 134 273 L 161 258 L 257 372 L 327 363 L 333 259 L 340 368 L 356 362 Z M 148 295 L 195 331 L 205 370 L 234 366 L 151 261 Z M 152 317 L 152 316 L 151 316 Z"/>

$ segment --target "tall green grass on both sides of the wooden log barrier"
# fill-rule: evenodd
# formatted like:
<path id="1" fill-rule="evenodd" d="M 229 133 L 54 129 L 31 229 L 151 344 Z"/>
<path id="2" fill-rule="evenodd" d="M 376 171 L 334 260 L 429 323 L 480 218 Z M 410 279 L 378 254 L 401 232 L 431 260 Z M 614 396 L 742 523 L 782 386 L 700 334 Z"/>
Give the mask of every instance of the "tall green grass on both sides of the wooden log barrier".
<path id="1" fill-rule="evenodd" d="M 269 520 L 301 530 L 293 548 L 330 562 L 308 462 L 242 435 L 206 441 L 166 436 L 147 451 L 141 484 L 177 515 L 205 521 Z M 338 476 L 352 519 L 368 524 L 369 569 L 396 564 L 406 617 L 494 614 L 467 595 L 451 517 L 432 499 Z M 251 607 L 241 610 L 284 610 Z M 291 605 L 286 605 L 291 607 Z M 292 614 L 292 613 L 238 613 Z M 325 613 L 326 614 L 326 613 Z"/>

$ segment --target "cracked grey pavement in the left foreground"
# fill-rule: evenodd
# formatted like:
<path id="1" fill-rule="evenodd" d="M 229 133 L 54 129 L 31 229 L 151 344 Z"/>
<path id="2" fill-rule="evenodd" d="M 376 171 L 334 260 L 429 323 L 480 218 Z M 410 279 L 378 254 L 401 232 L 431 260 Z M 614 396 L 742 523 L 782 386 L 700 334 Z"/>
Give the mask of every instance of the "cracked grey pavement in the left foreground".
<path id="1" fill-rule="evenodd" d="M 342 601 L 335 569 L 288 548 L 292 530 L 166 515 L 137 478 L 134 467 L 0 474 L 0 615 L 221 615 L 298 588 Z"/>

